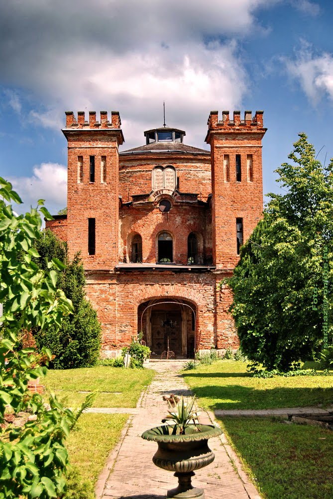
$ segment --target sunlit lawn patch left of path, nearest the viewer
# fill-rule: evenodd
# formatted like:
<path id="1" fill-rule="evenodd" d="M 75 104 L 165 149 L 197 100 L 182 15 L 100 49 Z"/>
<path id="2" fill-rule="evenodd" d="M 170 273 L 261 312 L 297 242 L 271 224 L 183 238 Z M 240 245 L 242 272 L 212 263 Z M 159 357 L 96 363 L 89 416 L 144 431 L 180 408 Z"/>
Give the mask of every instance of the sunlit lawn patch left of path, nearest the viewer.
<path id="1" fill-rule="evenodd" d="M 66 441 L 72 465 L 94 486 L 128 414 L 83 414 Z"/>

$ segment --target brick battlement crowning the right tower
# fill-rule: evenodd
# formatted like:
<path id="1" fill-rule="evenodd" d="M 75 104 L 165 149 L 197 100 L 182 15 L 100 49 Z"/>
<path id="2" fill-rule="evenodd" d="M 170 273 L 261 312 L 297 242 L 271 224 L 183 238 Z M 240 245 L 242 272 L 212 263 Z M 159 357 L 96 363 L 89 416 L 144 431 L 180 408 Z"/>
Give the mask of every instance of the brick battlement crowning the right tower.
<path id="1" fill-rule="evenodd" d="M 233 119 L 230 120 L 229 111 L 222 111 L 222 121 L 219 121 L 219 112 L 211 111 L 208 118 L 208 129 L 223 130 L 223 132 L 237 131 L 264 131 L 263 128 L 263 111 L 256 111 L 252 118 L 252 111 L 244 111 L 244 119 L 240 119 L 240 111 L 233 111 Z"/>

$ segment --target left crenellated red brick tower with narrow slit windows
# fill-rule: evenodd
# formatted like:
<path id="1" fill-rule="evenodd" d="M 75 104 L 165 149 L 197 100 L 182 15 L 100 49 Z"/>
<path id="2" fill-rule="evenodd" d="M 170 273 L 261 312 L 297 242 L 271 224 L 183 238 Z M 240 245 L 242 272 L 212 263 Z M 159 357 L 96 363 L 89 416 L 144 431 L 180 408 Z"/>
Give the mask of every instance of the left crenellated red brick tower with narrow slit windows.
<path id="1" fill-rule="evenodd" d="M 118 263 L 118 146 L 123 143 L 117 111 L 66 112 L 68 141 L 67 241 L 71 255 L 81 251 L 86 269 Z"/>

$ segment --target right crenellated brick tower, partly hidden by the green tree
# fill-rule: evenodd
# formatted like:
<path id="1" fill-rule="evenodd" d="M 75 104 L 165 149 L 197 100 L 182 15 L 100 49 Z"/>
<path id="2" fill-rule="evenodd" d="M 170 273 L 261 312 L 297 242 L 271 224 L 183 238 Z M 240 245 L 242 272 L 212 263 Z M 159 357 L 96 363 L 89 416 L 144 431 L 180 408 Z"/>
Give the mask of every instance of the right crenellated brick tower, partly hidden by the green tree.
<path id="1" fill-rule="evenodd" d="M 231 269 L 239 247 L 259 222 L 263 210 L 261 140 L 263 111 L 211 111 L 206 142 L 211 145 L 213 259 Z"/>

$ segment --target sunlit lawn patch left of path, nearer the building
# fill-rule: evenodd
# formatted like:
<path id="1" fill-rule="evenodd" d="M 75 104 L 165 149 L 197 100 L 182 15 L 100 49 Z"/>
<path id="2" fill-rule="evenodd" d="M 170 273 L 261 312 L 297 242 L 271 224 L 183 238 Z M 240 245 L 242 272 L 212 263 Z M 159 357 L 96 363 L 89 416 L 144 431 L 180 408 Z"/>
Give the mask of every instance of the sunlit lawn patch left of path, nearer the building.
<path id="1" fill-rule="evenodd" d="M 102 366 L 49 370 L 42 383 L 46 385 L 46 392 L 56 393 L 68 407 L 82 404 L 87 393 L 79 393 L 81 391 L 99 392 L 93 407 L 135 407 L 140 393 L 153 377 L 152 369 Z"/>

